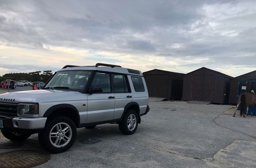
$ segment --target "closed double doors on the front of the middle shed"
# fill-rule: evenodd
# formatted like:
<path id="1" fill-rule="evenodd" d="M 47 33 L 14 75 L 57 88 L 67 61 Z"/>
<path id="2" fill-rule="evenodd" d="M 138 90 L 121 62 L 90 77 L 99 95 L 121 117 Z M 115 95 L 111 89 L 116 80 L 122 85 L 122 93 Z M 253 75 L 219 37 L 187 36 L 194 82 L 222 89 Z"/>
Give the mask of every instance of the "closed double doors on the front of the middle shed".
<path id="1" fill-rule="evenodd" d="M 213 83 L 213 75 L 194 75 L 192 100 L 211 102 Z"/>

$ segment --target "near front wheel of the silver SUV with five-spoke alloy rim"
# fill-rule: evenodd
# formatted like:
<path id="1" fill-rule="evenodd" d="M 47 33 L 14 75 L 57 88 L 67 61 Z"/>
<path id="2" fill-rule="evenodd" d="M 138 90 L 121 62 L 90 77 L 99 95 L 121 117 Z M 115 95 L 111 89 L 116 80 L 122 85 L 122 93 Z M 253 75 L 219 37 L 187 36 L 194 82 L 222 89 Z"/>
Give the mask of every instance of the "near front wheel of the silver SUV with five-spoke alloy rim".
<path id="1" fill-rule="evenodd" d="M 75 138 L 75 123 L 65 116 L 50 118 L 45 124 L 44 131 L 38 134 L 41 146 L 51 153 L 68 150 L 74 144 Z"/>

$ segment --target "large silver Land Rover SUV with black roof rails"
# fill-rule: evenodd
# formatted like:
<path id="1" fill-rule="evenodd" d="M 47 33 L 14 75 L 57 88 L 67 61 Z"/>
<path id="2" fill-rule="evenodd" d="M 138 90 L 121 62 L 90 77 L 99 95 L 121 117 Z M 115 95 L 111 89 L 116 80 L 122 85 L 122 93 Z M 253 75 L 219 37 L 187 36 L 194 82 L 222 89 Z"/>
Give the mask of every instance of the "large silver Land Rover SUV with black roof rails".
<path id="1" fill-rule="evenodd" d="M 38 133 L 41 146 L 60 153 L 75 142 L 76 128 L 112 123 L 130 135 L 149 109 L 140 71 L 102 63 L 64 66 L 41 90 L 1 94 L 0 129 L 12 141 Z"/>

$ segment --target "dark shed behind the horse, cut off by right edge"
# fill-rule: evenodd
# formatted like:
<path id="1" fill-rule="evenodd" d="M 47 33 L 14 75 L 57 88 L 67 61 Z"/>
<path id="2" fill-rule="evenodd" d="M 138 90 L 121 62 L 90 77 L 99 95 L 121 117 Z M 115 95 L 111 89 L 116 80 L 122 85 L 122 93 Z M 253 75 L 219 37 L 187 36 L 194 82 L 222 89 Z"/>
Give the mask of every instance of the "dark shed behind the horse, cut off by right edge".
<path id="1" fill-rule="evenodd" d="M 250 92 L 252 89 L 256 91 L 256 70 L 233 78 L 230 80 L 229 104 L 236 104 L 237 95 L 245 91 Z"/>

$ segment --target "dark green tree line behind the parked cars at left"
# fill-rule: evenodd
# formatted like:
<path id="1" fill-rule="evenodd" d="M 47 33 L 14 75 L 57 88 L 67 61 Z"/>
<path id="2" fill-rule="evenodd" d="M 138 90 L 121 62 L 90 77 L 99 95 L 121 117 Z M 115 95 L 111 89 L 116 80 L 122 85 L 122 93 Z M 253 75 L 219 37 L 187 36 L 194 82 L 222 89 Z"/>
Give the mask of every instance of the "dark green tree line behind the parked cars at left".
<path id="1" fill-rule="evenodd" d="M 41 82 L 47 82 L 49 78 L 53 75 L 53 72 L 51 70 L 44 70 L 36 71 L 36 72 L 30 72 L 30 73 L 6 73 L 2 77 L 0 76 L 0 81 L 2 80 L 28 80 L 30 82 L 34 81 L 41 81 Z"/>

